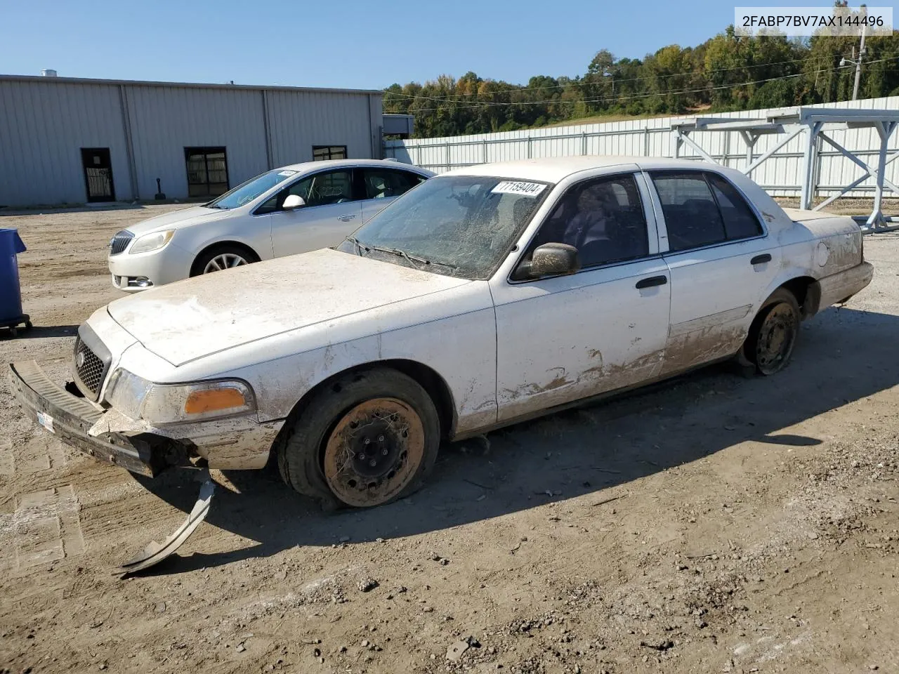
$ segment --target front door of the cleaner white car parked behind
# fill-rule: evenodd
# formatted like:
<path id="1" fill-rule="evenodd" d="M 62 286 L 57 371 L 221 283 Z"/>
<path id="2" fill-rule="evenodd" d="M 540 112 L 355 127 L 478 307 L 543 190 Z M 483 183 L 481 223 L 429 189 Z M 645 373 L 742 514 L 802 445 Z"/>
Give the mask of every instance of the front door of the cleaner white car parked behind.
<path id="1" fill-rule="evenodd" d="M 284 200 L 296 194 L 306 206 L 283 210 Z M 360 226 L 360 191 L 353 169 L 314 173 L 291 183 L 256 210 L 271 214 L 271 244 L 275 257 L 316 251 L 339 244 Z"/>

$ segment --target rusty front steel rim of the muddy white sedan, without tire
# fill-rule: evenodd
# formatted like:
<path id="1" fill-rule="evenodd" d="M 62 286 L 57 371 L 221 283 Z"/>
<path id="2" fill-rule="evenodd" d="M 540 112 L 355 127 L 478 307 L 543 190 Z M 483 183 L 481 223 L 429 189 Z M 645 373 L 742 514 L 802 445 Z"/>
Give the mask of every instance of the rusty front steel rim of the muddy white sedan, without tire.
<path id="1" fill-rule="evenodd" d="M 396 398 L 374 398 L 343 414 L 325 443 L 325 482 L 347 505 L 386 503 L 412 482 L 424 457 L 424 424 Z"/>

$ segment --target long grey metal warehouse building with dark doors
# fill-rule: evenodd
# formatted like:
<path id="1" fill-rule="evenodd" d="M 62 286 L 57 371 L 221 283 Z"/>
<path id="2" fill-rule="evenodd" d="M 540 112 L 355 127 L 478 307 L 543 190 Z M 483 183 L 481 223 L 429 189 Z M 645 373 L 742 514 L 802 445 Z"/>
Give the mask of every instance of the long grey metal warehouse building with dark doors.
<path id="1" fill-rule="evenodd" d="M 215 196 L 381 125 L 379 91 L 0 75 L 0 206 Z"/>

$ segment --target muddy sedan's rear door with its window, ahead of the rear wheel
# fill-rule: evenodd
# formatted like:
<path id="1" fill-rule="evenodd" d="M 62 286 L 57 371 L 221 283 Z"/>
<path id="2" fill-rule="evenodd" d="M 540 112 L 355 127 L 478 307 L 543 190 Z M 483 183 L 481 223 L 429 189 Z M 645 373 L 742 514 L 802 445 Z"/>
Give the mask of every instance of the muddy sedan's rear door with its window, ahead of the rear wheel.
<path id="1" fill-rule="evenodd" d="M 723 175 L 648 175 L 671 270 L 671 328 L 662 371 L 670 375 L 740 350 L 779 269 L 780 248 Z"/>

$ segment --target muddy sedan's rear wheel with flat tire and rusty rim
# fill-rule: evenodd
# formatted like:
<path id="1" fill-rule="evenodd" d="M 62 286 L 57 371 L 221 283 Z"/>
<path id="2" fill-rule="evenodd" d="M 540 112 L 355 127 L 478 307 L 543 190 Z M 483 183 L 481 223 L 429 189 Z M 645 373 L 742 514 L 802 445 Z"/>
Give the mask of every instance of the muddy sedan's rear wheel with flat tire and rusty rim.
<path id="1" fill-rule="evenodd" d="M 796 296 L 786 288 L 778 288 L 765 300 L 743 343 L 743 356 L 757 374 L 769 376 L 787 367 L 801 321 Z"/>

